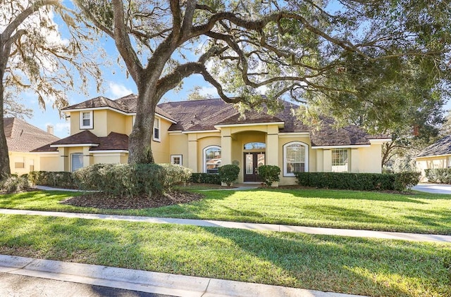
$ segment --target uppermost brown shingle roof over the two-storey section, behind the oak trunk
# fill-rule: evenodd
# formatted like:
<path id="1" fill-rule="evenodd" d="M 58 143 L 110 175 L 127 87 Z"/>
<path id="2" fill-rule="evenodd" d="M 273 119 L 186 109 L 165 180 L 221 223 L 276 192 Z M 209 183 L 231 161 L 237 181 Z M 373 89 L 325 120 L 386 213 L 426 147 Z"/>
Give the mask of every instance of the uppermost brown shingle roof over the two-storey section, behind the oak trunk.
<path id="1" fill-rule="evenodd" d="M 61 110 L 109 107 L 122 111 L 123 113 L 136 113 L 136 106 L 137 106 L 137 96 L 135 94 L 130 94 L 116 100 L 111 100 L 104 96 L 98 96 L 96 98 L 89 99 L 82 103 L 77 103 L 68 106 L 66 108 L 61 108 Z M 171 115 L 166 113 L 166 111 L 162 110 L 158 106 L 156 107 L 156 113 L 175 122 L 175 120 L 171 117 Z"/>

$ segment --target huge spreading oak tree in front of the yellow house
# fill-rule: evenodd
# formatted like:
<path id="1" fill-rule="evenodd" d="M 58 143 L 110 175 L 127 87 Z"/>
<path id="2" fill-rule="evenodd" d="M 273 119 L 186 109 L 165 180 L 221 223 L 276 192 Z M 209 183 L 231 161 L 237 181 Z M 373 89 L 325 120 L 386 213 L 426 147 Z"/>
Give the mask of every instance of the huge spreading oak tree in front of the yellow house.
<path id="1" fill-rule="evenodd" d="M 361 125 L 381 130 L 403 104 L 419 107 L 397 96 L 412 91 L 417 71 L 426 88 L 449 71 L 447 0 L 75 2 L 114 40 L 137 84 L 129 163 L 154 162 L 156 104 L 190 75 L 226 102 L 275 108 L 292 99 L 339 122 L 358 111 Z"/>

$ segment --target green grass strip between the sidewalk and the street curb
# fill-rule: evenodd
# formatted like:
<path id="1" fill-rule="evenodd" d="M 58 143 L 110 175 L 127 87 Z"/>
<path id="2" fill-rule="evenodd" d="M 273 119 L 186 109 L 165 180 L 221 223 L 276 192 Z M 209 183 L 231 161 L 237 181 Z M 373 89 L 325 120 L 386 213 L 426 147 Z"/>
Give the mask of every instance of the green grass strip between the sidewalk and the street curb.
<path id="1" fill-rule="evenodd" d="M 0 215 L 0 253 L 370 296 L 451 296 L 451 246 Z"/>

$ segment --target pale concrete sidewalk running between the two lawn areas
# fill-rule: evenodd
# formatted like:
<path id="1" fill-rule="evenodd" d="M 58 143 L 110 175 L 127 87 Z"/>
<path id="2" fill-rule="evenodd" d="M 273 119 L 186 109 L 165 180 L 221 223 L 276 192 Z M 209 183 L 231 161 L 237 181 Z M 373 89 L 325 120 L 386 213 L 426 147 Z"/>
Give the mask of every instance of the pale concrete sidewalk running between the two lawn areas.
<path id="1" fill-rule="evenodd" d="M 414 234 L 402 232 L 383 232 L 357 229 L 332 229 L 289 225 L 256 224 L 247 222 L 226 222 L 216 220 L 173 219 L 169 217 L 137 217 L 132 215 L 99 215 L 91 213 L 59 213 L 55 211 L 13 210 L 0 208 L 4 215 L 44 215 L 51 217 L 73 217 L 87 220 L 122 220 L 128 222 L 149 222 L 154 224 L 180 224 L 201 227 L 223 227 L 235 229 L 261 230 L 273 232 L 294 232 L 307 234 L 368 237 L 378 239 L 400 239 L 409 241 L 451 242 L 450 235 Z"/>

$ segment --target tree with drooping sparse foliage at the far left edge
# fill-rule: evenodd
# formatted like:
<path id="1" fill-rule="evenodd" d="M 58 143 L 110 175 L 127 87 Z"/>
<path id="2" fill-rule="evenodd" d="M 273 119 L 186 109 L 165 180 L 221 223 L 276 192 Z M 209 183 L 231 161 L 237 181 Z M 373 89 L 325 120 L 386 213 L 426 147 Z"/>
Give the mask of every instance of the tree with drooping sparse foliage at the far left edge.
<path id="1" fill-rule="evenodd" d="M 67 25 L 61 37 L 54 15 Z M 97 63 L 89 56 L 92 37 L 75 22 L 77 15 L 58 0 L 2 0 L 0 2 L 0 115 L 27 115 L 30 109 L 17 96 L 25 89 L 37 94 L 39 105 L 50 101 L 54 108 L 67 105 L 66 91 L 99 77 Z M 10 174 L 4 122 L 0 121 L 0 179 Z"/>

